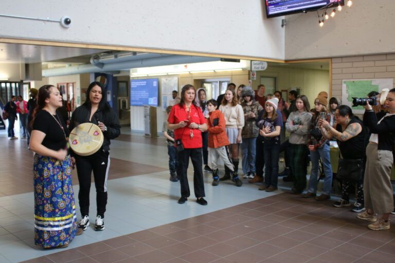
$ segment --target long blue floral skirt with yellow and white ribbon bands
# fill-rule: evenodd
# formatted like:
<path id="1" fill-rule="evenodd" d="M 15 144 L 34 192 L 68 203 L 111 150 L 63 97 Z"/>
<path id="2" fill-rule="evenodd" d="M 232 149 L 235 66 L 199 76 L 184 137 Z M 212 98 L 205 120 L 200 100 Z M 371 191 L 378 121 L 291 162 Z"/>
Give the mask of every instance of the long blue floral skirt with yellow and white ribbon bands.
<path id="1" fill-rule="evenodd" d="M 34 155 L 34 242 L 43 248 L 67 245 L 77 232 L 71 161 Z"/>

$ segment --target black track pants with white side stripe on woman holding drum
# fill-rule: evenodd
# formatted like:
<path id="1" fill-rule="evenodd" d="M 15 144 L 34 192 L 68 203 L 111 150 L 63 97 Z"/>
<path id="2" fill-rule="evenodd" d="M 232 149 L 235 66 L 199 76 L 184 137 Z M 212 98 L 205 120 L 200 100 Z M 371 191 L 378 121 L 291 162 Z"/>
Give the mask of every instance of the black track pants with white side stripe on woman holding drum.
<path id="1" fill-rule="evenodd" d="M 110 168 L 110 153 L 101 149 L 89 156 L 76 156 L 77 175 L 80 182 L 78 201 L 81 216 L 89 215 L 89 192 L 91 191 L 91 177 L 95 179 L 97 215 L 104 218 L 107 204 L 107 176 Z"/>

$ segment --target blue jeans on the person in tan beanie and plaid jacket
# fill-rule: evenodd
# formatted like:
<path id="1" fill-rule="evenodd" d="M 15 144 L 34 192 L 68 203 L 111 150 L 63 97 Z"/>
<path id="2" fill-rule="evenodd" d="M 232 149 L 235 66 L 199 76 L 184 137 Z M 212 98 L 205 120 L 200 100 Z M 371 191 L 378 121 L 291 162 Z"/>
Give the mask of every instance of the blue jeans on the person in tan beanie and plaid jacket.
<path id="1" fill-rule="evenodd" d="M 311 166 L 308 192 L 315 194 L 315 192 L 317 191 L 319 158 L 321 158 L 322 160 L 322 164 L 324 166 L 324 174 L 325 174 L 324 189 L 322 189 L 321 194 L 330 195 L 332 189 L 332 166 L 329 156 L 328 144 L 324 144 L 322 148 L 318 148 L 315 151 L 310 151 L 310 160 L 312 166 Z"/>

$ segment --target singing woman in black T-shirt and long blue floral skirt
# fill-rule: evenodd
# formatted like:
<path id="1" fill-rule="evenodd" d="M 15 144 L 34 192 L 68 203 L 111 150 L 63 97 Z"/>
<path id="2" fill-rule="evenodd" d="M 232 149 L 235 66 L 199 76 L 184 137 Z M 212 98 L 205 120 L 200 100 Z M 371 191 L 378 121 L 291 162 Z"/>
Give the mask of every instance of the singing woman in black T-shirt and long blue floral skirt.
<path id="1" fill-rule="evenodd" d="M 77 233 L 68 130 L 56 112 L 62 106 L 59 90 L 42 86 L 37 104 L 30 140 L 30 149 L 35 152 L 34 242 L 42 248 L 65 248 L 82 230 Z"/>

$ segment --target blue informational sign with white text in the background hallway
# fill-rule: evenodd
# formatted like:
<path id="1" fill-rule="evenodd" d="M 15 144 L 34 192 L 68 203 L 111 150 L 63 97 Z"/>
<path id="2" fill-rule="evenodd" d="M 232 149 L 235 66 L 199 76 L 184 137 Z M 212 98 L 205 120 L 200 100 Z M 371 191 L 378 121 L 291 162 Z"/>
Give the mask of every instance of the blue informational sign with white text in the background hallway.
<path id="1" fill-rule="evenodd" d="M 158 79 L 130 81 L 131 106 L 158 106 Z"/>

